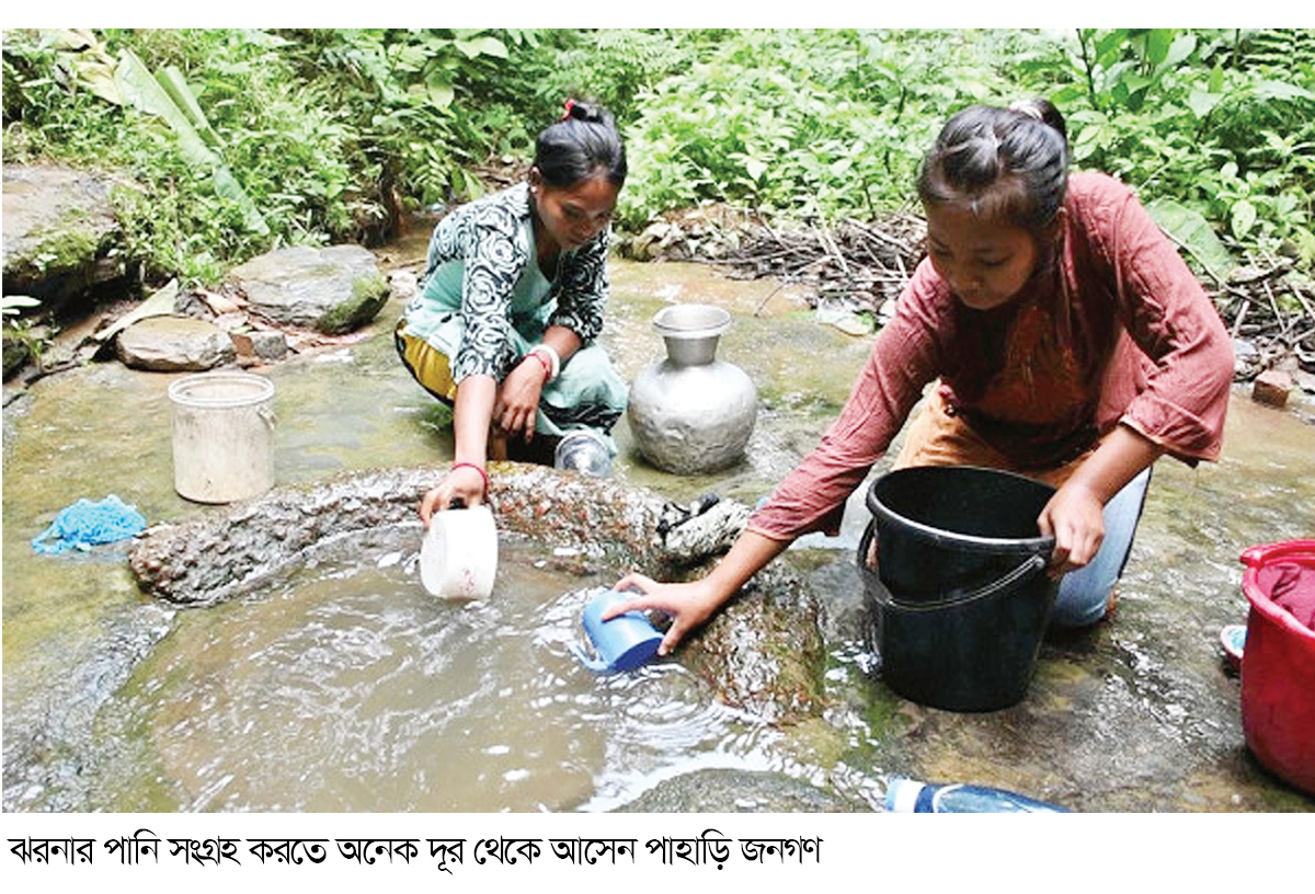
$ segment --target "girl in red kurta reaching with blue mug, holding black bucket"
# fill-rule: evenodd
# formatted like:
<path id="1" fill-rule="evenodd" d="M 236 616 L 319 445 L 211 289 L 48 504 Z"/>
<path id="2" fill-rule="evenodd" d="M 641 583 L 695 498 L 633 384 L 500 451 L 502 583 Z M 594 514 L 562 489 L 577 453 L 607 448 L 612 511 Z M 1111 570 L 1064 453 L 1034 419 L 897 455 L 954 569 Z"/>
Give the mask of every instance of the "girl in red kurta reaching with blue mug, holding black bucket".
<path id="1" fill-rule="evenodd" d="M 1065 575 L 1052 622 L 1099 621 L 1152 463 L 1218 458 L 1233 360 L 1214 305 L 1132 191 L 1066 168 L 1049 103 L 951 117 L 918 177 L 928 256 L 840 417 L 706 577 L 629 575 L 617 588 L 642 596 L 610 614 L 671 614 L 669 652 L 792 540 L 839 530 L 847 497 L 935 383 L 896 467 L 982 465 L 1055 485 L 1038 519 L 1055 536 L 1051 573 Z"/>

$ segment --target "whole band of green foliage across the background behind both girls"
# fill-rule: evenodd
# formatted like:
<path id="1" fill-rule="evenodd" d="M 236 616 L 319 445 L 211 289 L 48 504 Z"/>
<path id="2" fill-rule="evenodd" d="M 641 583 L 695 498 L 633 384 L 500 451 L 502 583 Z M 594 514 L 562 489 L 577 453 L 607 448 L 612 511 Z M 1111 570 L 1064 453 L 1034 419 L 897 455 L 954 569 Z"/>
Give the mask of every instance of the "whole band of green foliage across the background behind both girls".
<path id="1" fill-rule="evenodd" d="M 5 160 L 129 174 L 141 188 L 116 201 L 155 280 L 368 242 L 476 196 L 475 168 L 526 162 L 567 96 L 617 114 L 619 226 L 638 227 L 704 201 L 878 216 L 911 201 L 948 114 L 1035 95 L 1065 114 L 1076 167 L 1126 180 L 1190 238 L 1205 221 L 1235 258 L 1315 259 L 1310 30 L 4 33 Z"/>

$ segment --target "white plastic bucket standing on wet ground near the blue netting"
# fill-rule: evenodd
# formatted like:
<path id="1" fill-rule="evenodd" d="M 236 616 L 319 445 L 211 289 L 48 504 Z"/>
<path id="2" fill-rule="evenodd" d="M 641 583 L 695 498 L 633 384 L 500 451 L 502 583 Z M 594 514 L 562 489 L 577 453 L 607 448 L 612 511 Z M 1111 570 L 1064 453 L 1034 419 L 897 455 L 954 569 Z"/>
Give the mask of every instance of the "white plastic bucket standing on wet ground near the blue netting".
<path id="1" fill-rule="evenodd" d="M 203 372 L 168 387 L 174 489 L 204 504 L 274 486 L 274 383 L 249 372 Z"/>

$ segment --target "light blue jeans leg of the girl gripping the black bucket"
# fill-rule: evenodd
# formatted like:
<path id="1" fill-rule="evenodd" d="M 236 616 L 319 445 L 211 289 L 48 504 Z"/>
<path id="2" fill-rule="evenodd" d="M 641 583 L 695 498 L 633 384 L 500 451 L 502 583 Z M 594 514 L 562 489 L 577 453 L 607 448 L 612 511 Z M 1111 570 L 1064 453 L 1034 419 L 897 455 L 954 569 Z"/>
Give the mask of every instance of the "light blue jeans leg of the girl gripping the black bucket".
<path id="1" fill-rule="evenodd" d="M 1059 596 L 1055 597 L 1052 624 L 1086 627 L 1105 617 L 1110 590 L 1128 561 L 1132 535 L 1141 519 L 1149 482 L 1151 467 L 1147 467 L 1105 504 L 1105 539 L 1101 548 L 1086 567 L 1064 575 Z"/>

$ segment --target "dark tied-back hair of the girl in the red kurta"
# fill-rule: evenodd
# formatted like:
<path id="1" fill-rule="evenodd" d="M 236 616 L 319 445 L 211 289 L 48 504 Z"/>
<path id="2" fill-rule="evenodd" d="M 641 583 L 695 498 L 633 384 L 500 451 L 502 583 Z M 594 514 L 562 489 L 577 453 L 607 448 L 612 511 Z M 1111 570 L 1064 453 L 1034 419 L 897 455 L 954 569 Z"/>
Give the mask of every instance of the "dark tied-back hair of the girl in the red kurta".
<path id="1" fill-rule="evenodd" d="M 1047 100 L 957 112 L 918 175 L 924 205 L 959 204 L 1034 231 L 1055 220 L 1066 187 L 1068 130 Z"/>

